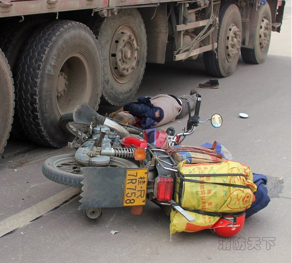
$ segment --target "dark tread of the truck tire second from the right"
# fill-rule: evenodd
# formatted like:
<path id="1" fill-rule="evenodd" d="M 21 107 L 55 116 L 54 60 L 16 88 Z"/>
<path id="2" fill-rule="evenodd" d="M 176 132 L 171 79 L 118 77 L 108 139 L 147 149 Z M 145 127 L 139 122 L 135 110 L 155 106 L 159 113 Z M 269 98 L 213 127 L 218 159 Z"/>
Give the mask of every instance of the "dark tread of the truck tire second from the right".
<path id="1" fill-rule="evenodd" d="M 227 11 L 229 11 L 230 8 L 233 8 L 233 6 L 236 6 L 235 4 L 231 4 L 231 3 L 226 3 L 225 5 L 223 5 L 221 11 L 220 11 L 220 17 L 219 17 L 219 21 L 223 20 L 223 17 L 225 16 L 225 13 Z M 219 28 L 218 28 L 218 36 L 217 36 L 217 43 L 219 43 L 219 39 L 220 39 L 220 33 L 221 33 L 221 29 L 222 29 L 222 23 L 219 23 Z M 224 33 L 224 32 L 223 32 Z M 205 64 L 205 68 L 208 72 L 208 74 L 214 76 L 214 77 L 227 77 L 231 74 L 224 74 L 223 70 L 220 69 L 220 61 L 217 58 L 218 56 L 218 48 L 216 48 L 216 52 L 213 51 L 207 51 L 204 54 L 204 64 Z"/>

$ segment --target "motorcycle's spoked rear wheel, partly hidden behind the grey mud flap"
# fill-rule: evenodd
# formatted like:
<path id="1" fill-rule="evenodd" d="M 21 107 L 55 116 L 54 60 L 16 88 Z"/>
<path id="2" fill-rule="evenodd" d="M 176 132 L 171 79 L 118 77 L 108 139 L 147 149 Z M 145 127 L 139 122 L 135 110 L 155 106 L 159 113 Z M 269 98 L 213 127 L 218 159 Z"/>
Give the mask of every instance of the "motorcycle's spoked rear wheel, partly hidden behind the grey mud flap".
<path id="1" fill-rule="evenodd" d="M 74 154 L 57 155 L 44 161 L 42 172 L 53 182 L 82 188 L 81 167 L 84 167 L 84 165 L 74 159 Z M 99 167 L 138 168 L 135 163 L 118 157 L 110 157 L 108 164 Z"/>

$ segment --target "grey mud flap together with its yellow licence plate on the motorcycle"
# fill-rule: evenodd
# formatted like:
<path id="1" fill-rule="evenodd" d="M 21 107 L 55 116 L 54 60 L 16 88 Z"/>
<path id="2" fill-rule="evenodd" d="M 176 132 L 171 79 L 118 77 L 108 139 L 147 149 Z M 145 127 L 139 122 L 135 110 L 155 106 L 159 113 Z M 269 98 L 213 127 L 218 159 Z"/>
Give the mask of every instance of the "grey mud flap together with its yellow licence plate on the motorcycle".
<path id="1" fill-rule="evenodd" d="M 145 205 L 148 169 L 83 167 L 81 171 L 84 179 L 79 210 Z M 145 177 L 145 183 L 139 177 Z"/>

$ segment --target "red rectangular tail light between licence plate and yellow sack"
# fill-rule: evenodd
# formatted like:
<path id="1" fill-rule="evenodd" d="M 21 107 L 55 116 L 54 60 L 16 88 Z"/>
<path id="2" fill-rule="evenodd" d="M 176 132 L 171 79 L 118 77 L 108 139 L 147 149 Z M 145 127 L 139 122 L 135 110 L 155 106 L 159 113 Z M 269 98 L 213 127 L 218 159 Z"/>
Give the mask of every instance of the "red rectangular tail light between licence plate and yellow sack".
<path id="1" fill-rule="evenodd" d="M 173 179 L 172 177 L 158 176 L 154 183 L 154 196 L 159 202 L 172 200 Z"/>

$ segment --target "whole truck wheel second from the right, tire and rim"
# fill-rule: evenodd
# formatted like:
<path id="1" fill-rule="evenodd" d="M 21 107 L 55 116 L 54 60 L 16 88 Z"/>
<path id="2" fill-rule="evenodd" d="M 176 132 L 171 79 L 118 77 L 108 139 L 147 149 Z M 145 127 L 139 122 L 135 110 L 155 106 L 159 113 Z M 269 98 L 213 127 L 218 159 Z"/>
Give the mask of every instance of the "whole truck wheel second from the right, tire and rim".
<path id="1" fill-rule="evenodd" d="M 241 44 L 241 16 L 235 4 L 227 3 L 220 11 L 217 48 L 204 53 L 207 72 L 214 77 L 230 76 L 236 69 Z"/>

